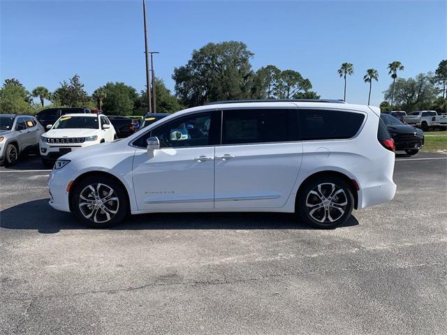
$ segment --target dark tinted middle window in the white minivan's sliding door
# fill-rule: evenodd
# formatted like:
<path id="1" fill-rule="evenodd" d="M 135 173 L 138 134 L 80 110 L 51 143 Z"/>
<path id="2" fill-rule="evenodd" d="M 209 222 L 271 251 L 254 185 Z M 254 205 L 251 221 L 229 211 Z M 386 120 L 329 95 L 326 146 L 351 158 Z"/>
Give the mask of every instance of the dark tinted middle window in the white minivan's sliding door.
<path id="1" fill-rule="evenodd" d="M 298 111 L 223 110 L 222 144 L 298 140 Z"/>

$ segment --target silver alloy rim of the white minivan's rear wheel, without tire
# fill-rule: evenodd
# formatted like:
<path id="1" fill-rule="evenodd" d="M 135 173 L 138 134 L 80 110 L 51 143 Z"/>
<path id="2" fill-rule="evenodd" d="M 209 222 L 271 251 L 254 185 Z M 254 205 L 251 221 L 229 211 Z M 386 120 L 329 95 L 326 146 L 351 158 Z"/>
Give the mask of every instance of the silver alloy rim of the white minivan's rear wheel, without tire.
<path id="1" fill-rule="evenodd" d="M 333 223 L 341 218 L 348 206 L 348 198 L 343 188 L 332 184 L 318 184 L 309 191 L 306 207 L 314 220 L 320 223 Z"/>

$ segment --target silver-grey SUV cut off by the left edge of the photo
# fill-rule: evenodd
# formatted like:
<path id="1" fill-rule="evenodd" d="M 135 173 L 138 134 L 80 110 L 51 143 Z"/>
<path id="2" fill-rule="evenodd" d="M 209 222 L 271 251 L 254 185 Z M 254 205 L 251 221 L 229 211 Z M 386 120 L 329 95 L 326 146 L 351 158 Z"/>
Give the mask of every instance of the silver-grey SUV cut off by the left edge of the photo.
<path id="1" fill-rule="evenodd" d="M 13 164 L 20 154 L 38 153 L 43 126 L 30 115 L 0 114 L 0 163 Z"/>

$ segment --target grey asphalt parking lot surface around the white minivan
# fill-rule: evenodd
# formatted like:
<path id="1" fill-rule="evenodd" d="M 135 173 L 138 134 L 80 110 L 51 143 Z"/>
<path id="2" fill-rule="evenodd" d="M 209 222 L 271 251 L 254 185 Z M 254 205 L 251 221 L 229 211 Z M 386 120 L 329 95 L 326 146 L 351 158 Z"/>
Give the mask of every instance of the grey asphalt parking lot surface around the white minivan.
<path id="1" fill-rule="evenodd" d="M 0 334 L 447 334 L 447 156 L 398 156 L 392 202 L 314 230 L 285 214 L 152 214 L 91 230 L 38 158 L 0 168 Z"/>

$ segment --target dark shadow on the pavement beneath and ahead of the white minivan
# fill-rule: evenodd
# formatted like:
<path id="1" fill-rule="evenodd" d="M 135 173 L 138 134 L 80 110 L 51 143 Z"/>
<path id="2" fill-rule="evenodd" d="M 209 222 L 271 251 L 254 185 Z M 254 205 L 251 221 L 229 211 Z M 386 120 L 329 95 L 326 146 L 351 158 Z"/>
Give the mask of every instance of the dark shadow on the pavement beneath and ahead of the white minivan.
<path id="1" fill-rule="evenodd" d="M 358 225 L 354 216 L 338 228 Z M 60 230 L 91 229 L 70 213 L 56 211 L 48 199 L 24 202 L 0 211 L 0 227 L 37 230 L 52 234 Z M 298 216 L 284 213 L 160 213 L 129 216 L 110 230 L 314 230 Z"/>

